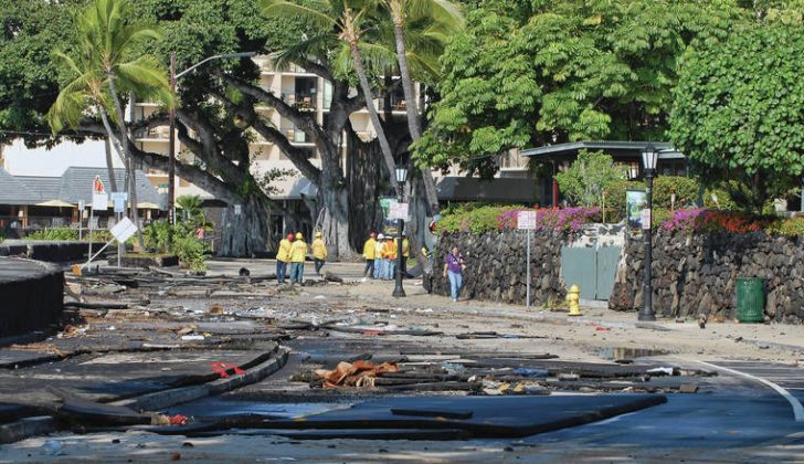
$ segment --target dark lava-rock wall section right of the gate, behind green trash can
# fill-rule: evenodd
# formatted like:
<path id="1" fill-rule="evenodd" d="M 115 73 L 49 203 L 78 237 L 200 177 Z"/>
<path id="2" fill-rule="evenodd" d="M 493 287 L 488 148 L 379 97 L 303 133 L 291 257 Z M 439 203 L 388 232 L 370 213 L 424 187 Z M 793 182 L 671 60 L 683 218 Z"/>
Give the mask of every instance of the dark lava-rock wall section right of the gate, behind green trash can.
<path id="1" fill-rule="evenodd" d="M 804 321 L 804 243 L 798 238 L 659 230 L 654 234 L 653 255 L 657 315 L 734 318 L 737 277 L 762 277 L 766 319 Z M 642 306 L 643 260 L 642 238 L 626 240 L 610 308 L 634 310 Z"/>

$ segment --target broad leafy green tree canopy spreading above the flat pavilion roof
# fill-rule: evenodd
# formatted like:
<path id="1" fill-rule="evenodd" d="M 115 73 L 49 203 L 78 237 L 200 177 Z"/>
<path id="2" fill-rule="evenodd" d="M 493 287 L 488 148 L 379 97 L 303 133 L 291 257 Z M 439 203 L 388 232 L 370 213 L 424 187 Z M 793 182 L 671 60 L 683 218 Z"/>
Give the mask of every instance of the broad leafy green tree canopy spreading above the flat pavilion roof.
<path id="1" fill-rule="evenodd" d="M 665 138 L 680 56 L 758 14 L 728 0 L 477 3 L 442 59 L 417 156 L 483 173 L 514 147 Z"/>

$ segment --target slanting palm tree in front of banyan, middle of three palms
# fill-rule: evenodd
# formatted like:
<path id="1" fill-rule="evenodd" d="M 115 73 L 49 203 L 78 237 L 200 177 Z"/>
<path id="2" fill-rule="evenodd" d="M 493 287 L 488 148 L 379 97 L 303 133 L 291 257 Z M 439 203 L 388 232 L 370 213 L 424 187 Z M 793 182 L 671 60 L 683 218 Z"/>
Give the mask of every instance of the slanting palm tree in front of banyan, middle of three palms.
<path id="1" fill-rule="evenodd" d="M 318 25 L 325 30 L 332 30 L 346 45 L 340 56 L 349 56 L 351 65 L 358 75 L 360 89 L 366 98 L 366 106 L 369 110 L 371 125 L 377 131 L 385 167 L 390 173 L 391 187 L 399 191 L 394 172 L 393 154 L 385 137 L 385 131 L 380 123 L 380 116 L 374 106 L 374 96 L 369 84 L 369 77 L 363 64 L 363 51 L 370 53 L 372 68 L 385 68 L 390 56 L 388 49 L 374 44 L 362 43 L 363 27 L 371 19 L 370 13 L 375 11 L 377 2 L 373 0 L 313 0 L 305 4 L 293 3 L 287 0 L 262 0 L 262 13 L 267 18 L 294 18 L 303 19 L 310 24 Z M 342 67 L 347 67 L 342 63 Z"/>

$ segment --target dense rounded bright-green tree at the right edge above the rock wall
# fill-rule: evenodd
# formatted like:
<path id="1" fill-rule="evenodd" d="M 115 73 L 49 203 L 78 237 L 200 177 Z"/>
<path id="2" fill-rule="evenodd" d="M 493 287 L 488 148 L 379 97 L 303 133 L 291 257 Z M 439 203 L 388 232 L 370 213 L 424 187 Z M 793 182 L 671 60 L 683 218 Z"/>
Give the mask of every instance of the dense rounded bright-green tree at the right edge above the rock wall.
<path id="1" fill-rule="evenodd" d="M 702 176 L 736 180 L 726 189 L 745 209 L 804 175 L 802 50 L 801 27 L 762 25 L 684 59 L 670 138 Z"/>

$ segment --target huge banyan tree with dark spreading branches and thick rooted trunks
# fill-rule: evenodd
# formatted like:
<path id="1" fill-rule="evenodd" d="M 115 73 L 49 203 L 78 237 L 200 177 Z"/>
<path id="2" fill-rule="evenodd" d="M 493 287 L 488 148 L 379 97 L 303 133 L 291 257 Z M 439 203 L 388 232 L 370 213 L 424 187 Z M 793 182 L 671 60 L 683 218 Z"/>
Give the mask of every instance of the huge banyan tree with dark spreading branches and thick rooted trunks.
<path id="1" fill-rule="evenodd" d="M 4 24 L 2 53 L 20 61 L 15 67 L 6 67 L 0 85 L 0 130 L 13 130 L 9 138 L 21 133 L 30 144 L 52 144 L 59 137 L 50 137 L 42 125 L 42 115 L 55 99 L 59 75 L 50 61 L 50 50 L 64 48 L 70 52 L 68 30 L 60 18 L 71 17 L 75 6 L 85 1 L 51 2 L 31 0 L 30 14 L 12 0 L 0 0 L 0 23 Z M 285 102 L 260 85 L 261 70 L 250 60 L 221 60 L 204 64 L 203 68 L 186 75 L 179 85 L 178 135 L 187 151 L 193 155 L 190 162 L 177 166 L 178 175 L 205 189 L 230 207 L 242 204 L 243 214 L 230 210 L 224 228 L 222 250 L 228 254 L 250 255 L 271 246 L 272 214 L 282 205 L 272 202 L 264 182 L 255 178 L 250 167 L 254 161 L 250 141 L 260 135 L 279 147 L 283 154 L 305 177 L 318 187 L 318 196 L 311 198 L 314 221 L 328 234 L 329 243 L 339 252 L 349 254 L 351 246 L 362 242 L 367 230 L 377 225 L 379 209 L 377 198 L 384 192 L 388 173 L 377 165 L 374 144 L 362 143 L 352 130 L 349 115 L 364 107 L 361 95 L 351 95 L 352 75 L 336 73 L 337 59 L 332 49 L 337 41 L 304 43 L 306 38 L 317 36 L 315 24 L 294 21 L 272 21 L 261 17 L 255 1 L 240 0 L 141 0 L 135 3 L 136 15 L 157 23 L 165 40 L 152 44 L 149 53 L 161 56 L 167 64 L 170 52 L 178 55 L 178 70 L 186 68 L 204 57 L 230 52 L 254 51 L 271 54 L 290 51 L 286 64 L 297 64 L 320 77 L 332 82 L 332 102 L 327 117 L 317 120 L 316 114 L 305 112 Z M 40 18 L 52 18 L 41 21 Z M 43 40 L 44 39 L 44 40 Z M 336 43 L 337 45 L 337 43 Z M 309 53 L 293 53 L 304 49 Z M 46 72 L 43 72 L 46 70 Z M 24 73 L 22 76 L 18 74 Z M 15 81 L 19 82 L 15 83 Z M 388 88 L 379 80 L 375 94 L 383 97 Z M 36 101 L 41 98 L 42 102 Z M 307 149 L 288 140 L 286 134 L 264 116 L 261 107 L 271 107 L 304 131 L 306 139 L 320 154 L 320 162 L 313 162 Z M 129 136 L 138 130 L 167 123 L 165 113 L 130 126 Z M 390 119 L 384 122 L 391 124 Z M 398 125 L 403 128 L 404 125 Z M 99 137 L 104 130 L 99 122 L 87 117 L 77 129 L 81 135 Z M 347 133 L 350 156 L 343 169 L 343 133 Z M 404 151 L 406 130 L 394 130 L 392 145 L 395 154 Z M 131 156 L 138 166 L 167 170 L 168 157 L 147 152 L 135 144 Z M 401 147 L 401 148 L 400 148 Z M 318 212 L 326 212 L 324 217 Z M 296 217 L 298 218 L 298 217 Z M 289 217 L 294 220 L 294 215 Z M 349 223 L 360 228 L 349 230 Z M 294 226 L 293 222 L 289 226 Z"/>

